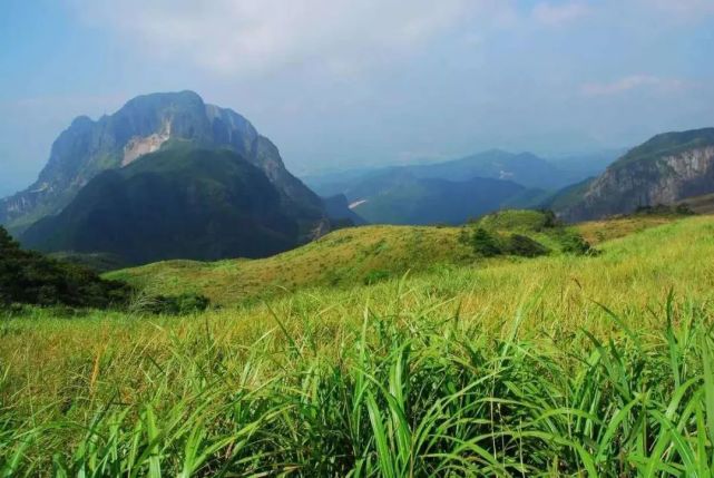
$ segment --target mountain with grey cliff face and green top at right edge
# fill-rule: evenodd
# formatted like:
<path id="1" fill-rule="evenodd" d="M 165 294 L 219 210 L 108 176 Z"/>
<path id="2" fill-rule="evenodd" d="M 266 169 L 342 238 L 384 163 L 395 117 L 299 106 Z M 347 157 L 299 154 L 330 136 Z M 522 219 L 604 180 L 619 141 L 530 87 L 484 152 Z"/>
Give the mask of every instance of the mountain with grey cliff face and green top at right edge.
<path id="1" fill-rule="evenodd" d="M 657 135 L 600 176 L 561 191 L 550 205 L 576 222 L 708 193 L 714 193 L 714 128 Z"/>

